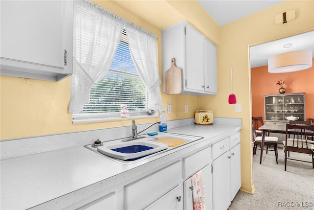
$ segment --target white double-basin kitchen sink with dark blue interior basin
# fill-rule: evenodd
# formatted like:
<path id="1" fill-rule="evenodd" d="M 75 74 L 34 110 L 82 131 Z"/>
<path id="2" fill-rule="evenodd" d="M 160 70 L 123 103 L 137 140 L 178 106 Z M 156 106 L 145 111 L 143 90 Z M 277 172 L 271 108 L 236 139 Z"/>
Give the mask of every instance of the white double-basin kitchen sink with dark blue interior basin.
<path id="1" fill-rule="evenodd" d="M 135 163 L 195 140 L 203 139 L 203 137 L 198 136 L 167 132 L 156 132 L 153 135 L 140 135 L 136 139 L 123 138 L 104 141 L 101 146 L 93 147 L 92 144 L 88 144 L 84 147 L 119 163 Z"/>

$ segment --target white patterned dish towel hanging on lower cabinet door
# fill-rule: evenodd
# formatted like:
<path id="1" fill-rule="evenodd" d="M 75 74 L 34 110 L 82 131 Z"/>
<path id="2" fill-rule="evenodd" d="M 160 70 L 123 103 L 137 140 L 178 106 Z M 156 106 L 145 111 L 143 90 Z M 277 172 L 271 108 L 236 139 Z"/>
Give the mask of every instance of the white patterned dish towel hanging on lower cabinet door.
<path id="1" fill-rule="evenodd" d="M 190 179 L 193 186 L 193 210 L 206 210 L 202 170 L 191 176 Z"/>

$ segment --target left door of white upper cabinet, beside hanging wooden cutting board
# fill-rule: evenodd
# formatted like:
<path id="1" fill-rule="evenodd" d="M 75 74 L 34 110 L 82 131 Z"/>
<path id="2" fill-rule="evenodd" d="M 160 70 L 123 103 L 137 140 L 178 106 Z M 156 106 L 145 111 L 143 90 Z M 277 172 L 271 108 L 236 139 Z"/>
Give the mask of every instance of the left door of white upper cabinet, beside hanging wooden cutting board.
<path id="1" fill-rule="evenodd" d="M 186 89 L 204 91 L 204 37 L 185 25 Z"/>

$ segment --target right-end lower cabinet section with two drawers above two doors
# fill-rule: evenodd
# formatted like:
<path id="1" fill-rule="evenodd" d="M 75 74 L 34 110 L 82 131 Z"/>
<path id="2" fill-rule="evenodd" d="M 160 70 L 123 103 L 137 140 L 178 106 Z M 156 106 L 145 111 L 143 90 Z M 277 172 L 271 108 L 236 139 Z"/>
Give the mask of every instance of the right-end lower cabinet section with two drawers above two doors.
<path id="1" fill-rule="evenodd" d="M 213 209 L 227 210 L 241 187 L 240 134 L 212 145 Z"/>

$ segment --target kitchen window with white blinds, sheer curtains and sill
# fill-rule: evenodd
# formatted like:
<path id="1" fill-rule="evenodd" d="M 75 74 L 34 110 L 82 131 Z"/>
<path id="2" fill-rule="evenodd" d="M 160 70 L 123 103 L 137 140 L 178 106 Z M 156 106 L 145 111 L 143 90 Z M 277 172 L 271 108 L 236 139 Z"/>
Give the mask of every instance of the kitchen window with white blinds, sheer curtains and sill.
<path id="1" fill-rule="evenodd" d="M 156 35 L 89 1 L 75 4 L 73 123 L 125 119 L 121 104 L 128 105 L 129 118 L 157 117 L 162 105 Z"/>

